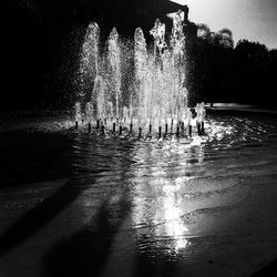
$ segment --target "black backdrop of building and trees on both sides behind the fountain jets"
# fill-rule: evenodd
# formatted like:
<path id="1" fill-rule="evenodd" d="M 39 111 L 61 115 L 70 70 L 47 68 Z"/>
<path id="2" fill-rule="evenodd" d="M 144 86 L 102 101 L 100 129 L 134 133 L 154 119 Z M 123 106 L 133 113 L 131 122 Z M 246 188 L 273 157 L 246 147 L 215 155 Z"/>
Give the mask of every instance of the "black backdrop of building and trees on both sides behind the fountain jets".
<path id="1" fill-rule="evenodd" d="M 104 40 L 112 27 L 133 38 L 142 27 L 147 40 L 156 18 L 171 30 L 166 13 L 183 9 L 167 0 L 6 0 L 1 112 L 71 109 L 78 91 L 79 54 L 85 28 L 96 21 Z M 275 107 L 277 51 L 257 42 L 224 45 L 197 37 L 187 22 L 187 80 L 196 101 L 239 102 Z"/>

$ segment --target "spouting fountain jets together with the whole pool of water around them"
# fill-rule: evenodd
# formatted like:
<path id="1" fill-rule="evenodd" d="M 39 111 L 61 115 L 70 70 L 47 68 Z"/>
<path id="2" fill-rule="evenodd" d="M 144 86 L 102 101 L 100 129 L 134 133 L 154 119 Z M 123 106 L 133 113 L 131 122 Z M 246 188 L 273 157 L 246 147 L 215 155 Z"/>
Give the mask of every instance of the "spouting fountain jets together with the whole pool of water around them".
<path id="1" fill-rule="evenodd" d="M 168 17 L 153 45 L 90 24 L 73 116 L 1 122 L 0 276 L 250 276 L 276 258 L 276 115 L 191 109 Z"/>

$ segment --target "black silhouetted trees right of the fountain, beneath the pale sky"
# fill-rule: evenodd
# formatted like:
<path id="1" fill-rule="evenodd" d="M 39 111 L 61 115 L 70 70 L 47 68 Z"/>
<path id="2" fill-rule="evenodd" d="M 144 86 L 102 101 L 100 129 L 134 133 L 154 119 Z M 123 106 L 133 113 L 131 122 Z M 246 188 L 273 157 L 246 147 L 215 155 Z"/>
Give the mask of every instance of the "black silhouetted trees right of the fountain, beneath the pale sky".
<path id="1" fill-rule="evenodd" d="M 237 102 L 276 107 L 277 49 L 239 40 L 228 29 L 195 25 L 187 35 L 187 86 L 191 102 Z M 192 29 L 191 25 L 191 29 Z"/>

